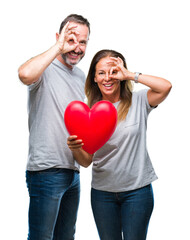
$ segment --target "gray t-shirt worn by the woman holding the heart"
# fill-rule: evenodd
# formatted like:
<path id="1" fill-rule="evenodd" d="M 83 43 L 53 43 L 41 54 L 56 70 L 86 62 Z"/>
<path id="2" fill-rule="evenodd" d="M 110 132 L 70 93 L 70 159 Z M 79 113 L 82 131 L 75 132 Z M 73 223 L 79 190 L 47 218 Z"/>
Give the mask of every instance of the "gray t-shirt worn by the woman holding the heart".
<path id="1" fill-rule="evenodd" d="M 114 103 L 117 108 L 119 102 Z M 127 117 L 93 158 L 92 187 L 109 192 L 138 189 L 157 179 L 146 147 L 147 89 L 133 92 Z"/>

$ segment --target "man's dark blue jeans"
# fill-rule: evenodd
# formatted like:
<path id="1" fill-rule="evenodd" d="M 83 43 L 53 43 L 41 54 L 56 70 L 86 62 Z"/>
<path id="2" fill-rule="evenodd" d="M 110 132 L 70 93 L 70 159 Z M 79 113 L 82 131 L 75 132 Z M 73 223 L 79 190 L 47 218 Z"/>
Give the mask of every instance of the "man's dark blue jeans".
<path id="1" fill-rule="evenodd" d="M 80 197 L 79 173 L 26 171 L 30 196 L 28 240 L 72 240 Z"/>

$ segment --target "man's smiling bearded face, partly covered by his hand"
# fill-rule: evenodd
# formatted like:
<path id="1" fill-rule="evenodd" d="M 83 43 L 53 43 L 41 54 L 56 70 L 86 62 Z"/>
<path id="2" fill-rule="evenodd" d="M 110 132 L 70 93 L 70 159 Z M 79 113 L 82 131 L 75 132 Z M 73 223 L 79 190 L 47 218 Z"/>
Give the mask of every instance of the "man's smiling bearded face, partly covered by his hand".
<path id="1" fill-rule="evenodd" d="M 61 55 L 64 62 L 70 67 L 79 63 L 84 57 L 89 37 L 89 30 L 86 25 L 71 22 L 70 26 L 72 25 L 77 26 L 75 29 L 79 33 L 76 35 L 79 45 L 73 51 Z"/>

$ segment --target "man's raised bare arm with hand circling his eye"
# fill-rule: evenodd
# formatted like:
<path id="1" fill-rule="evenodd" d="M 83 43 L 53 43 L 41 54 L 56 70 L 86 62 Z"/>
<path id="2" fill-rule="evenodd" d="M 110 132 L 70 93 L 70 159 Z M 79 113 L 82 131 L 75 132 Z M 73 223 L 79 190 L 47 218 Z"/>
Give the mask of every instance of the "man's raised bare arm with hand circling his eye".
<path id="1" fill-rule="evenodd" d="M 30 85 L 36 82 L 49 64 L 60 54 L 73 51 L 77 45 L 75 30 L 76 26 L 69 27 L 69 22 L 64 26 L 61 33 L 57 36 L 57 42 L 46 52 L 31 58 L 18 69 L 20 80 Z"/>

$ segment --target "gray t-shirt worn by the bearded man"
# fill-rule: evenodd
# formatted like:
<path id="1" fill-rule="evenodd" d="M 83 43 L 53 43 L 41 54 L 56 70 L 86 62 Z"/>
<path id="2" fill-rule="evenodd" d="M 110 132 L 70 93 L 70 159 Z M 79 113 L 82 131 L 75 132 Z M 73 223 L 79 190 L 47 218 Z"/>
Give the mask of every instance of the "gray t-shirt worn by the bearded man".
<path id="1" fill-rule="evenodd" d="M 55 59 L 40 79 L 28 87 L 29 155 L 27 170 L 78 170 L 67 146 L 64 112 L 74 100 L 84 101 L 85 75 Z"/>

